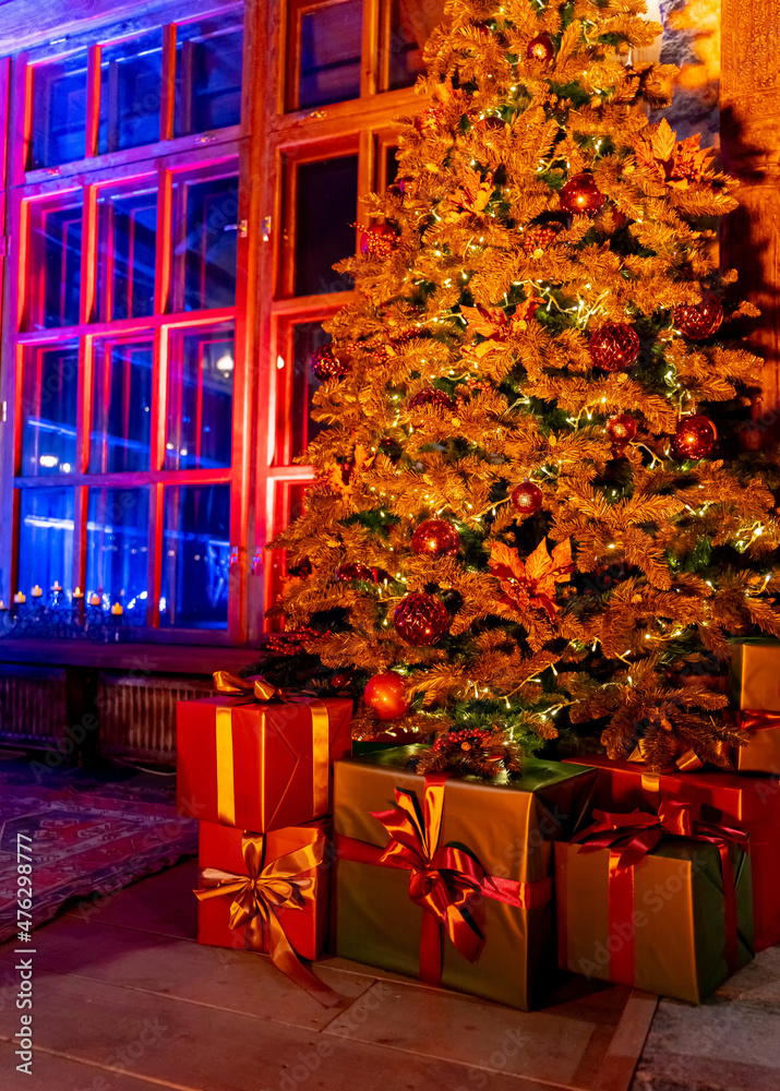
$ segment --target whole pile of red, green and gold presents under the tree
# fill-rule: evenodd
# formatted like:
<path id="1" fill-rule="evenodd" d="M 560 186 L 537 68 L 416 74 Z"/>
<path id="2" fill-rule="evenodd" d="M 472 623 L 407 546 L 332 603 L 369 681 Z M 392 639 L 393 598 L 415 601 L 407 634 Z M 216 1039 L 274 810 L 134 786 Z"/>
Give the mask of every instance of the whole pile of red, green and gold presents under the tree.
<path id="1" fill-rule="evenodd" d="M 776 678 L 780 642 L 736 645 L 734 771 L 653 772 L 520 767 L 485 731 L 352 756 L 350 700 L 217 674 L 178 710 L 199 942 L 266 951 L 325 1004 L 326 948 L 526 1010 L 557 969 L 698 1003 L 780 939 Z"/>

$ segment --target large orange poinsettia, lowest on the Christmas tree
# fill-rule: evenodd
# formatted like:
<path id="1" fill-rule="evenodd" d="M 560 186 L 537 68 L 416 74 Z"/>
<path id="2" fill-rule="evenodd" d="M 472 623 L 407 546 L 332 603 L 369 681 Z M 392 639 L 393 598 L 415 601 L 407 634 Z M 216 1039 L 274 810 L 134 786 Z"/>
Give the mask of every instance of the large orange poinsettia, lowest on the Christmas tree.
<path id="1" fill-rule="evenodd" d="M 517 551 L 503 542 L 493 542 L 488 564 L 504 592 L 499 599 L 499 613 L 544 610 L 552 621 L 561 610 L 555 602 L 555 584 L 568 583 L 575 567 L 572 539 L 555 546 L 550 553 L 547 538 L 543 538 L 526 561 L 521 561 Z"/>

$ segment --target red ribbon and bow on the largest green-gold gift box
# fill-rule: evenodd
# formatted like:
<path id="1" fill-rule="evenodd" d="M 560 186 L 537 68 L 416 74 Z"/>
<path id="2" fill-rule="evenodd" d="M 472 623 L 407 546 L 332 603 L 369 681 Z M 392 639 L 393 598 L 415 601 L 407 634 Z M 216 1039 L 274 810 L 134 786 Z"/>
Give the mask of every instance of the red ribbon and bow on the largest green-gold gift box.
<path id="1" fill-rule="evenodd" d="M 425 778 L 424 810 L 413 792 L 396 788 L 397 806 L 371 813 L 391 835 L 384 850 L 351 837 L 335 838 L 336 852 L 341 859 L 411 873 L 409 897 L 422 910 L 420 978 L 432 984 L 442 980 L 445 932 L 469 962 L 479 958 L 484 934 L 473 911 L 482 897 L 516 909 L 530 909 L 545 904 L 551 896 L 550 878 L 518 883 L 487 875 L 468 849 L 454 844 L 439 847 L 447 779 L 441 775 Z"/>

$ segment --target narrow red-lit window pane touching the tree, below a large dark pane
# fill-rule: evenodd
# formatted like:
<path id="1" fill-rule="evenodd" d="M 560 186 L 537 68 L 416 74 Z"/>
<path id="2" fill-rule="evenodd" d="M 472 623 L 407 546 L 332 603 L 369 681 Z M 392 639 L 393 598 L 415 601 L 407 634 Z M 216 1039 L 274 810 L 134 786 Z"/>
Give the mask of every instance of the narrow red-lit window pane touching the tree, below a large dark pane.
<path id="1" fill-rule="evenodd" d="M 292 368 L 286 361 L 284 369 L 277 369 L 279 382 L 286 387 L 286 396 L 278 399 L 277 465 L 289 465 L 302 455 L 325 427 L 311 419 L 312 395 L 321 385 L 312 375 L 311 358 L 329 341 L 329 334 L 319 322 L 299 322 L 292 327 Z"/>

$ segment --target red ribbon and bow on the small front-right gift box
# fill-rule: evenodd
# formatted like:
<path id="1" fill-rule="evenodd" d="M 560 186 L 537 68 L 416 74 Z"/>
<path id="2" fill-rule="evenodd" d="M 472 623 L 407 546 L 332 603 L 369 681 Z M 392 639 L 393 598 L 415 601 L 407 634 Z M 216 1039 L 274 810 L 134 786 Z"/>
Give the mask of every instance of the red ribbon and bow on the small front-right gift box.
<path id="1" fill-rule="evenodd" d="M 573 838 L 574 842 L 580 842 L 580 852 L 610 850 L 610 934 L 628 937 L 612 958 L 614 980 L 626 983 L 634 980 L 634 866 L 652 852 L 663 837 L 687 837 L 717 846 L 723 877 L 725 961 L 730 973 L 736 971 L 739 916 L 729 850 L 732 844 L 746 848 L 747 835 L 730 826 L 703 822 L 700 813 L 698 805 L 683 803 L 664 793 L 658 814 L 595 811 L 596 824 Z"/>

